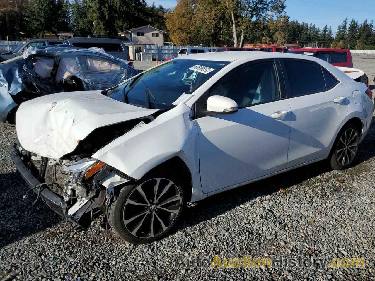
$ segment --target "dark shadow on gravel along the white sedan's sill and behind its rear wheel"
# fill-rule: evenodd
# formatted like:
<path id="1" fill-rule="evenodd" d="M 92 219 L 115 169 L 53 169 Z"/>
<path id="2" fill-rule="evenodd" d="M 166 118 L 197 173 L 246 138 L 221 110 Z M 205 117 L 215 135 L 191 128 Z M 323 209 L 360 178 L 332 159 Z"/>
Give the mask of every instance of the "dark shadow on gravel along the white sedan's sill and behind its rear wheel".
<path id="1" fill-rule="evenodd" d="M 372 120 L 371 127 L 365 140 L 360 145 L 360 150 L 353 165 L 354 168 L 374 156 L 375 118 Z M 202 221 L 210 220 L 217 215 L 221 215 L 226 211 L 242 205 L 245 202 L 254 200 L 257 197 L 278 191 L 280 192 L 280 188 L 288 189 L 293 185 L 300 184 L 328 171 L 330 171 L 329 165 L 324 161 L 319 161 L 261 181 L 253 182 L 242 187 L 210 196 L 187 208 L 186 213 L 189 215 L 185 216 L 184 224 L 181 227 L 184 228 L 201 223 Z"/>

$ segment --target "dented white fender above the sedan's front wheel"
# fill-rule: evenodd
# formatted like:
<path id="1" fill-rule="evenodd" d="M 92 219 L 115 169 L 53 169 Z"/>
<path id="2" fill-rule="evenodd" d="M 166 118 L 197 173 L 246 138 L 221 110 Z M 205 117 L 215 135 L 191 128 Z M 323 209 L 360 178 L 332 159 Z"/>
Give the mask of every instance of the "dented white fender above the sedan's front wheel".
<path id="1" fill-rule="evenodd" d="M 199 176 L 198 129 L 189 113 L 190 107 L 180 103 L 154 121 L 115 139 L 92 157 L 135 179 L 175 156 L 180 157 L 192 176 L 192 201 L 201 200 L 205 194 Z"/>

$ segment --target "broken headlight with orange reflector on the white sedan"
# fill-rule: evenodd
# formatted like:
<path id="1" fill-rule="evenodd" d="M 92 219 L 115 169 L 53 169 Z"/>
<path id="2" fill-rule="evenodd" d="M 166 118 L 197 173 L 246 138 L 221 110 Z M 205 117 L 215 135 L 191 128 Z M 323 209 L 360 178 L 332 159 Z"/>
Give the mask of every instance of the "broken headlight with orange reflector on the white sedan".
<path id="1" fill-rule="evenodd" d="M 60 172 L 65 175 L 70 175 L 72 173 L 76 175 L 83 174 L 84 179 L 88 179 L 90 178 L 90 176 L 94 175 L 104 166 L 105 164 L 101 161 L 98 161 L 92 158 L 86 158 L 86 159 L 82 159 L 74 163 L 63 164 L 60 168 Z"/>

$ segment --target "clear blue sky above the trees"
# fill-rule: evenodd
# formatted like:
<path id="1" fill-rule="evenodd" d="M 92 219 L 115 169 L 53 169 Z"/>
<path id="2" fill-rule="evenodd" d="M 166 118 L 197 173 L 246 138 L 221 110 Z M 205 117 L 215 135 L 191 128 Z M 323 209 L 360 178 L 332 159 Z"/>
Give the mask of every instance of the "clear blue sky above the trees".
<path id="1" fill-rule="evenodd" d="M 176 6 L 175 0 L 146 0 L 151 5 L 162 5 L 165 8 Z M 287 9 L 285 12 L 290 16 L 290 20 L 296 19 L 300 22 L 315 24 L 316 27 L 328 25 L 335 33 L 339 24 L 345 18 L 348 22 L 352 18 L 359 24 L 367 18 L 368 21 L 374 19 L 374 0 L 286 0 Z"/>

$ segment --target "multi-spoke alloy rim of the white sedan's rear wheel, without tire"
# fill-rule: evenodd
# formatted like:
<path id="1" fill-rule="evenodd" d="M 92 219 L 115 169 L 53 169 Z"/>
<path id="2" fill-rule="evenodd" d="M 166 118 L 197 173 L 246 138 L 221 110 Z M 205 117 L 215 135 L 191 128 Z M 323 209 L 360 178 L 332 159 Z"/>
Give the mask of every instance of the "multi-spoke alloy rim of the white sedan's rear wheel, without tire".
<path id="1" fill-rule="evenodd" d="M 353 161 L 358 149 L 358 134 L 353 129 L 347 129 L 342 133 L 336 148 L 336 159 L 342 166 Z"/>

